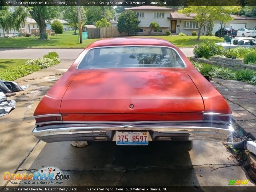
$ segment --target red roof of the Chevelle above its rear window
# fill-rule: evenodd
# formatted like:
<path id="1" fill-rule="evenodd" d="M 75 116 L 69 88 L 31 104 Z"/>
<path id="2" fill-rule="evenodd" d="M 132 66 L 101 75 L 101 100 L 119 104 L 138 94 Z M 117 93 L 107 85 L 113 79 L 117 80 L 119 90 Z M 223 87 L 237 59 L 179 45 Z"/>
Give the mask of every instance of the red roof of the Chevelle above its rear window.
<path id="1" fill-rule="evenodd" d="M 153 45 L 153 46 L 168 46 L 175 47 L 169 41 L 161 38 L 142 38 L 142 37 L 119 37 L 105 38 L 91 43 L 88 47 L 103 47 L 103 46 L 124 46 L 124 45 Z"/>

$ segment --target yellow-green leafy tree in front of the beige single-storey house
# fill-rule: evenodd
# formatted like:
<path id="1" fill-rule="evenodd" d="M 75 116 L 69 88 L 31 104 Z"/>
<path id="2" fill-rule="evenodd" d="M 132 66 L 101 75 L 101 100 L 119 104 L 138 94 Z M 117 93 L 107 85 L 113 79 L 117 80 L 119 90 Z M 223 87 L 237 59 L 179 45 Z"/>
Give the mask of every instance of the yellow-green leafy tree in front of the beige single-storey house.
<path id="1" fill-rule="evenodd" d="M 206 2 L 204 3 L 206 4 Z M 226 23 L 233 19 L 230 14 L 237 12 L 239 9 L 239 6 L 187 6 L 179 10 L 178 13 L 184 13 L 186 16 L 193 17 L 198 22 L 197 40 L 199 40 L 201 29 L 207 21 L 217 19 Z M 196 13 L 196 15 L 191 15 L 191 13 Z"/>

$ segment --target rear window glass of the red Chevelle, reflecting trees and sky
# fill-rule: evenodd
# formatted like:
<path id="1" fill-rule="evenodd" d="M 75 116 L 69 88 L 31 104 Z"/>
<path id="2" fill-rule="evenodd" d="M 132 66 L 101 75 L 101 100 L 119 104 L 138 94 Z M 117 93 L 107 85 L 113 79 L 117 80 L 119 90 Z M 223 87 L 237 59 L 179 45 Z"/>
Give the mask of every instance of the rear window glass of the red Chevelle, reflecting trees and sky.
<path id="1" fill-rule="evenodd" d="M 184 68 L 177 52 L 167 47 L 124 46 L 89 50 L 78 69 L 175 67 Z"/>

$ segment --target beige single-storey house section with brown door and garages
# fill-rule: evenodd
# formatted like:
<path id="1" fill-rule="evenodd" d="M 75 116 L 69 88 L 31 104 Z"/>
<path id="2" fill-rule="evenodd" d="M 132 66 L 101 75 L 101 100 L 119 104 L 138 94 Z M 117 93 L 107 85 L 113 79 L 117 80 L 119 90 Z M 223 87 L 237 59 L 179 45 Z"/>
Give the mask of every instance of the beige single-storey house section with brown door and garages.
<path id="1" fill-rule="evenodd" d="M 180 32 L 191 35 L 192 31 L 198 31 L 199 25 L 198 22 L 194 21 L 193 17 L 195 16 L 195 13 L 191 13 L 191 17 L 187 17 L 185 14 L 181 13 L 170 13 L 170 17 L 168 19 L 170 20 L 170 31 L 172 34 L 179 34 Z M 245 16 L 238 16 L 238 15 L 231 15 L 234 19 L 230 22 L 227 22 L 226 24 L 223 23 L 222 27 L 232 27 L 233 29 L 237 30 L 242 27 L 255 27 L 256 26 L 256 18 L 253 17 L 245 17 Z M 201 35 L 204 35 L 207 33 L 207 23 L 202 27 L 201 29 Z M 221 28 L 221 22 L 215 20 L 214 21 L 214 27 L 213 27 L 213 33 Z"/>

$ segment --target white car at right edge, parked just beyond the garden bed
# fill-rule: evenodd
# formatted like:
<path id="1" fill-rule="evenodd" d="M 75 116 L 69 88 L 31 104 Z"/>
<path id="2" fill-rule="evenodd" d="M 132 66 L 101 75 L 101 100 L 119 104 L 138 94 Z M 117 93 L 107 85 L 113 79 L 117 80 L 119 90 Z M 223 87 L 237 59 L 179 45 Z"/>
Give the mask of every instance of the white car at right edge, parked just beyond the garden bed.
<path id="1" fill-rule="evenodd" d="M 255 47 L 256 46 L 256 39 L 248 38 L 248 37 L 235 37 L 231 39 L 231 42 L 225 43 L 215 43 L 215 45 L 220 45 L 224 49 L 235 48 L 235 47 Z"/>

